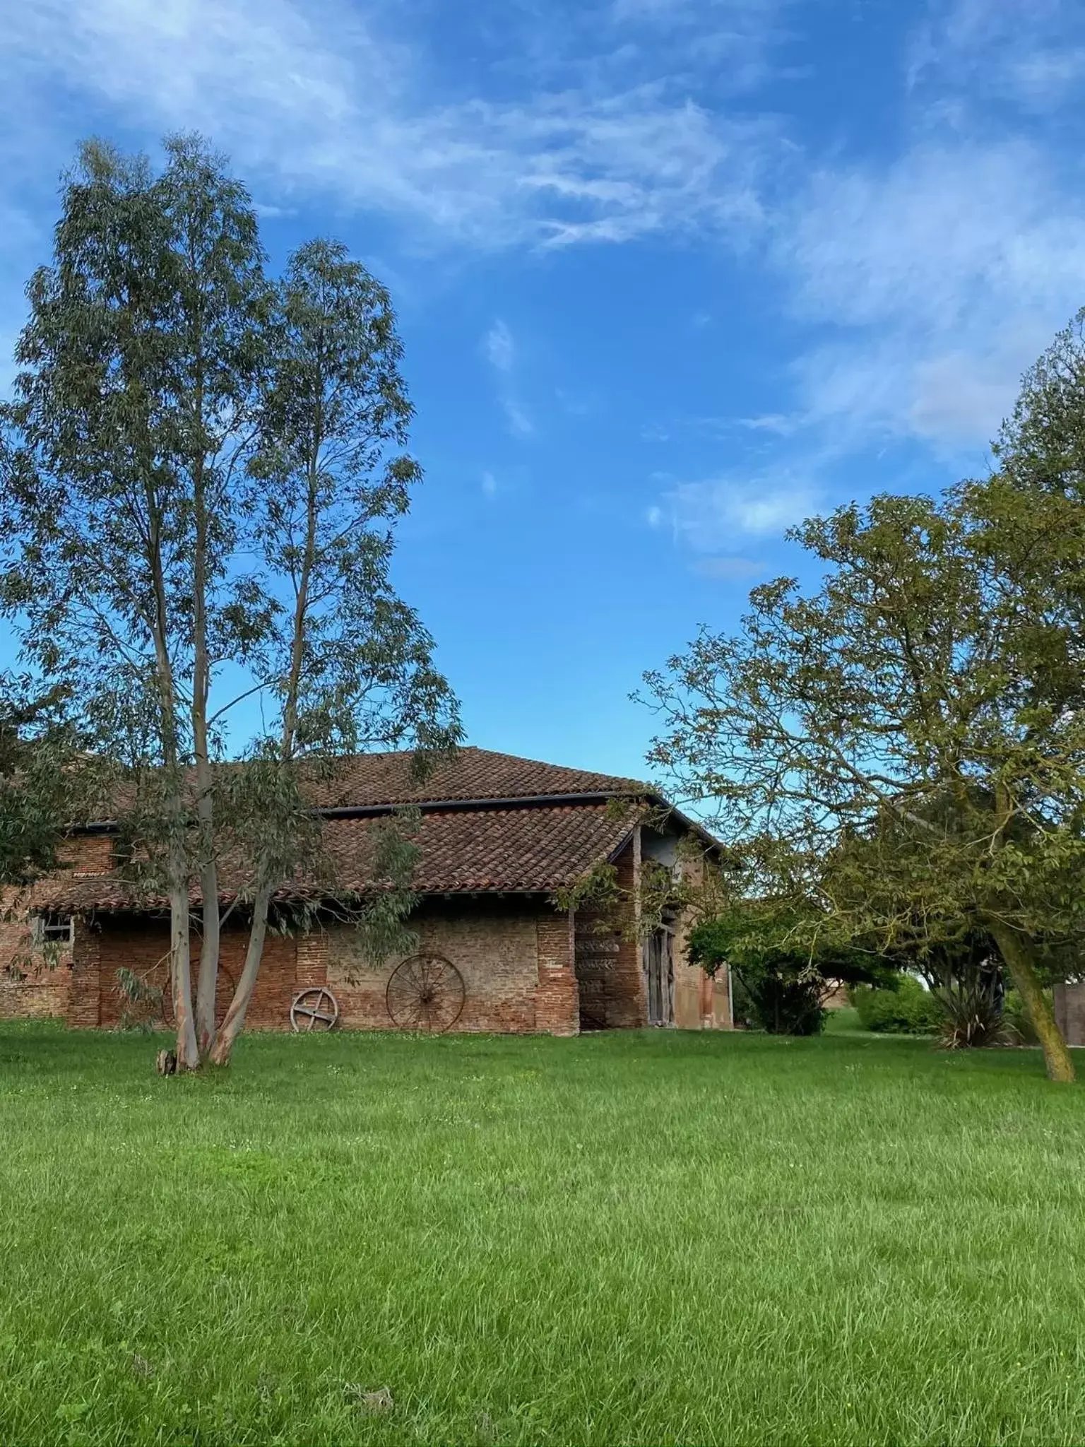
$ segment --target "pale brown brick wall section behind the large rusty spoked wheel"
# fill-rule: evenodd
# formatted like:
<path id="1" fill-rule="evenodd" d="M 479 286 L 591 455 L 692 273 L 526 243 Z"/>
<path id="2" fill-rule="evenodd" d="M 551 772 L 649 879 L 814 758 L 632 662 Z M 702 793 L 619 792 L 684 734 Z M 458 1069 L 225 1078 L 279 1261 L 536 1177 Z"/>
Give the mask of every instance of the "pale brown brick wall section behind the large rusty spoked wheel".
<path id="1" fill-rule="evenodd" d="M 411 920 L 420 949 L 450 959 L 463 975 L 456 1030 L 573 1035 L 576 977 L 569 968 L 569 916 L 531 900 L 433 900 Z M 388 977 L 396 959 L 373 965 L 349 926 L 328 929 L 327 983 L 352 1030 L 388 1030 Z"/>

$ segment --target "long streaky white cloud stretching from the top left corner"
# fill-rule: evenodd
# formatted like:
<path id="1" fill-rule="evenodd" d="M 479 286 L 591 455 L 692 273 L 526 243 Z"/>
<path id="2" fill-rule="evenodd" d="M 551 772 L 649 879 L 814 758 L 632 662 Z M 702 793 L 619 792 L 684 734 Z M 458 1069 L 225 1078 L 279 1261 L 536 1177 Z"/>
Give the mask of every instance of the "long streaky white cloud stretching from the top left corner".
<path id="1" fill-rule="evenodd" d="M 341 0 L 25 0 L 0 30 L 0 104 L 30 172 L 42 152 L 55 169 L 90 107 L 111 130 L 205 130 L 272 192 L 266 204 L 330 194 L 412 223 L 420 243 L 761 224 L 773 127 L 696 104 L 652 74 L 651 52 L 635 81 L 577 84 L 570 69 L 518 101 L 464 97 L 434 87 L 420 45 L 375 13 Z M 613 48 L 613 30 L 595 39 Z"/>

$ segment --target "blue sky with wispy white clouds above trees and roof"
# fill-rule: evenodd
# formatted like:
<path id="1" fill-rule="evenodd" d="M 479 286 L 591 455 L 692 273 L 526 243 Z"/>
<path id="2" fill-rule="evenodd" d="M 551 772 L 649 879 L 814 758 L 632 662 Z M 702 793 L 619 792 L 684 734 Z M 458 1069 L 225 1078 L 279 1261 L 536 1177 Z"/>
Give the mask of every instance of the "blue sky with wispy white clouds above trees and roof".
<path id="1" fill-rule="evenodd" d="M 275 263 L 391 287 L 398 582 L 489 748 L 642 773 L 641 671 L 982 470 L 1085 304 L 1079 0 L 22 0 L 0 61 L 4 356 L 90 133 L 203 130 Z"/>

